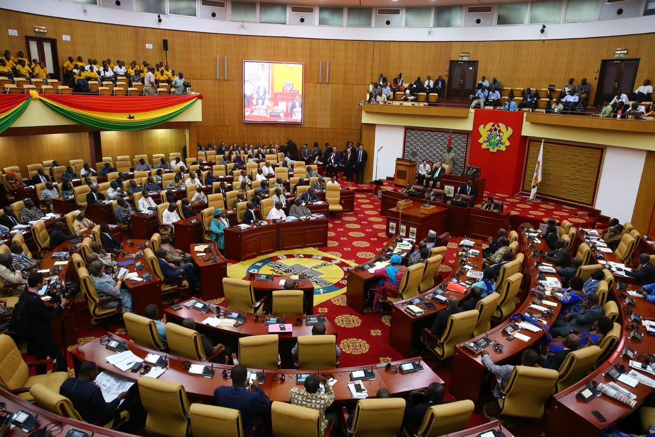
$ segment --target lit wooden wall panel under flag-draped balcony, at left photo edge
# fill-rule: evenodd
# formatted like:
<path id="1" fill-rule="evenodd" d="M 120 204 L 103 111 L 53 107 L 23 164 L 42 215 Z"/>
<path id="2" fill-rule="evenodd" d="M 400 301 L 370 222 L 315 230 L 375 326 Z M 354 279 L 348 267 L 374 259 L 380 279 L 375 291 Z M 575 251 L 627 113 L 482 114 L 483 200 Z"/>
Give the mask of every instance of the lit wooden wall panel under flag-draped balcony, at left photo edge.
<path id="1" fill-rule="evenodd" d="M 0 162 L 3 167 L 17 165 L 24 177 L 28 164 L 56 159 L 67 165 L 71 159 L 89 159 L 88 134 L 51 134 L 0 137 Z"/>

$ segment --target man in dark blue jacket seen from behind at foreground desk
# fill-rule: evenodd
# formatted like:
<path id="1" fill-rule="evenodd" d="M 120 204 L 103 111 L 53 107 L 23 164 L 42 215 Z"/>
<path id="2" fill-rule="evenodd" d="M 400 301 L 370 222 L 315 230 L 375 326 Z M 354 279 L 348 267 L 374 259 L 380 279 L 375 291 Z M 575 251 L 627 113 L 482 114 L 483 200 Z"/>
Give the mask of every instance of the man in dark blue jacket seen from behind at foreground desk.
<path id="1" fill-rule="evenodd" d="M 232 385 L 222 385 L 214 390 L 219 407 L 234 408 L 241 412 L 244 435 L 259 422 L 259 435 L 265 435 L 266 415 L 271 410 L 271 401 L 264 390 L 259 388 L 257 378 L 248 381 L 248 369 L 238 364 L 232 368 Z"/>

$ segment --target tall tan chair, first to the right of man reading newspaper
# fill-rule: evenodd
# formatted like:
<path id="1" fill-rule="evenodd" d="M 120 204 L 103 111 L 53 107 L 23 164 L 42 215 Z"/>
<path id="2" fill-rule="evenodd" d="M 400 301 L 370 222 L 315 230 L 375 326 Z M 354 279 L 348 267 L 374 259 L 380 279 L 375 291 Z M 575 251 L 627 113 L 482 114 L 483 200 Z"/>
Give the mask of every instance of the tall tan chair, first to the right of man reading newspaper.
<path id="1" fill-rule="evenodd" d="M 147 432 L 170 437 L 191 435 L 189 400 L 183 385 L 148 377 L 139 378 L 138 384 L 147 412 Z"/>

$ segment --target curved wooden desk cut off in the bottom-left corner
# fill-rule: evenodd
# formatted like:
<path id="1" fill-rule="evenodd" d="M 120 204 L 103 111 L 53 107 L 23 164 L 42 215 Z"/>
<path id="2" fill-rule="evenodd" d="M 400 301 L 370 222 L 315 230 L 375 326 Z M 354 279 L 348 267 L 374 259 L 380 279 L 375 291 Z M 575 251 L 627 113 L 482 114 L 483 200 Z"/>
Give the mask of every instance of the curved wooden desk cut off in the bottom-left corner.
<path id="1" fill-rule="evenodd" d="M 128 437 L 132 434 L 125 434 L 124 432 L 116 431 L 109 428 L 96 427 L 90 423 L 76 421 L 70 417 L 60 416 L 53 413 L 50 413 L 47 409 L 40 408 L 31 404 L 30 402 L 19 398 L 18 396 L 8 392 L 7 390 L 0 388 L 0 402 L 5 404 L 5 410 L 10 413 L 16 413 L 19 409 L 31 413 L 33 415 L 38 415 L 37 421 L 39 421 L 39 426 L 34 430 L 39 430 L 46 427 L 48 424 L 53 422 L 59 422 L 62 425 L 62 429 L 58 432 L 52 431 L 53 435 L 56 436 L 65 436 L 69 430 L 84 430 L 89 435 L 94 436 L 107 436 L 107 437 Z M 48 429 L 54 427 L 55 425 L 50 425 Z M 26 436 L 20 428 L 14 428 L 14 430 L 9 431 L 10 436 Z"/>

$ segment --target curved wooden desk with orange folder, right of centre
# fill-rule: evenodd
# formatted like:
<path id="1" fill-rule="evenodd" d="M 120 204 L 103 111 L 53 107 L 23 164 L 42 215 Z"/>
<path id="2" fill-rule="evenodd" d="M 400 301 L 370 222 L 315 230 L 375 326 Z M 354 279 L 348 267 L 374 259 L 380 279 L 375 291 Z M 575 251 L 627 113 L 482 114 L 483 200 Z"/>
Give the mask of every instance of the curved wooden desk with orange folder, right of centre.
<path id="1" fill-rule="evenodd" d="M 471 264 L 477 265 L 477 267 L 474 267 L 473 269 L 474 271 L 482 271 L 482 247 L 476 246 L 475 248 L 476 250 L 479 250 L 480 253 L 476 257 L 473 256 L 469 257 L 468 261 Z M 451 275 L 449 275 L 447 278 L 444 278 L 443 282 L 441 283 L 447 284 L 448 282 L 450 282 L 450 280 L 453 277 L 461 278 L 462 280 L 468 279 L 466 278 L 465 275 L 457 275 L 458 269 L 459 269 L 458 265 L 453 265 L 453 271 L 451 272 Z M 435 288 L 437 287 L 432 288 L 432 290 L 434 290 Z M 428 295 L 432 292 L 432 290 L 423 292 L 421 295 L 422 296 Z M 457 297 L 457 299 L 461 301 L 463 299 L 466 299 L 469 293 L 470 293 L 470 287 L 466 289 L 465 294 L 447 292 L 445 296 L 450 297 L 452 295 Z M 391 310 L 391 323 L 393 324 L 394 329 L 390 331 L 389 345 L 394 349 L 396 349 L 396 351 L 400 352 L 403 356 L 411 355 L 411 345 L 413 339 L 417 339 L 421 337 L 421 330 L 423 328 L 429 328 L 430 326 L 432 326 L 432 323 L 434 323 L 434 319 L 436 318 L 437 313 L 442 309 L 445 309 L 447 306 L 445 303 L 433 302 L 434 305 L 436 305 L 437 307 L 436 309 L 426 310 L 420 316 L 415 316 L 407 311 L 406 307 L 408 303 L 409 303 L 408 300 L 398 301 L 394 303 L 394 305 L 392 305 L 392 310 Z M 464 398 L 458 398 L 458 399 L 464 399 Z"/>

